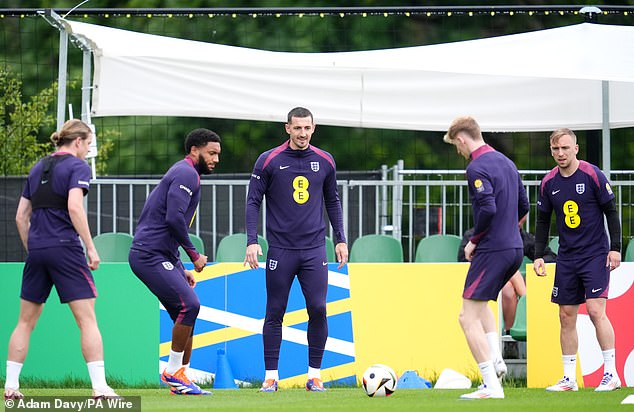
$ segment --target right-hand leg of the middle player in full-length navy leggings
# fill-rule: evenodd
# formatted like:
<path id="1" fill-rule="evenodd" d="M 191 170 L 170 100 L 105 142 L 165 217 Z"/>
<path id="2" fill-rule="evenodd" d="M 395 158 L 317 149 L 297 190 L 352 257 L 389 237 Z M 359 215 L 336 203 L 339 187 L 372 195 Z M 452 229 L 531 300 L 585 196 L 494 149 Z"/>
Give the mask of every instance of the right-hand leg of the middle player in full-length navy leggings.
<path id="1" fill-rule="evenodd" d="M 321 361 L 328 339 L 326 295 L 328 292 L 328 259 L 323 247 L 304 250 L 303 262 L 297 275 L 308 312 L 308 381 L 306 389 L 323 392 Z"/>

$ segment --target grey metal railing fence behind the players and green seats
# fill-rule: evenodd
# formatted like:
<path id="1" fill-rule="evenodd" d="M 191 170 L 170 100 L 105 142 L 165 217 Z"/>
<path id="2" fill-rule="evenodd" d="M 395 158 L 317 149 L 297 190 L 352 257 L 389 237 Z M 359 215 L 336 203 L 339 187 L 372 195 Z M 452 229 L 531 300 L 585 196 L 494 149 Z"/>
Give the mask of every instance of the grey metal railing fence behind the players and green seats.
<path id="1" fill-rule="evenodd" d="M 545 171 L 522 171 L 531 213 L 539 179 Z M 634 172 L 613 172 L 613 189 L 623 227 L 624 248 L 632 238 L 634 210 Z M 405 261 L 413 261 L 418 242 L 432 234 L 462 235 L 473 226 L 471 203 L 463 171 L 405 170 L 401 162 L 382 168 L 381 180 L 339 180 L 346 235 L 350 246 L 367 234 L 387 234 L 403 245 Z M 0 236 L 0 261 L 21 261 L 24 251 L 15 229 L 15 207 L 24 178 L 3 178 L 1 193 L 3 236 Z M 159 179 L 96 179 L 87 198 L 88 221 L 93 235 L 105 232 L 133 234 L 145 200 Z M 212 259 L 223 237 L 245 232 L 244 208 L 249 181 L 244 179 L 201 180 L 201 199 L 191 232 L 205 243 Z M 259 233 L 266 236 L 266 199 L 262 207 Z M 327 216 L 326 216 L 327 219 Z M 553 224 L 551 235 L 556 235 Z M 332 237 L 332 229 L 329 232 Z"/>

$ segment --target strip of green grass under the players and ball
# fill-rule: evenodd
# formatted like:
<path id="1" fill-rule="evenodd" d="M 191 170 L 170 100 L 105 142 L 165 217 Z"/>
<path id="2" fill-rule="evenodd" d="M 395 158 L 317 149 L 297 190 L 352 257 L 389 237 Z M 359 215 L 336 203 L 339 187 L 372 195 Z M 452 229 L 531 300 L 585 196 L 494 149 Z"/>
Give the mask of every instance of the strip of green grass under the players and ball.
<path id="1" fill-rule="evenodd" d="M 26 396 L 88 396 L 88 389 L 27 389 Z M 402 389 L 389 398 L 368 398 L 360 388 L 334 388 L 325 393 L 285 389 L 258 393 L 256 389 L 216 390 L 213 396 L 172 396 L 167 389 L 121 389 L 124 396 L 141 396 L 147 411 L 634 411 L 620 405 L 632 388 L 609 393 L 581 389 L 572 393 L 549 393 L 543 389 L 506 388 L 505 399 L 461 401 L 463 390 Z"/>

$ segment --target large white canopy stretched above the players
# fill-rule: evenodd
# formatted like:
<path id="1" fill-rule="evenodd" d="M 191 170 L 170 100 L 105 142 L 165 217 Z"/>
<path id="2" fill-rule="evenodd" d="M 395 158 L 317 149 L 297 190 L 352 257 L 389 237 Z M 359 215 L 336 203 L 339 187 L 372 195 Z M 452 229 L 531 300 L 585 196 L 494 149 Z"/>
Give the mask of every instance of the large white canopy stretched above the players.
<path id="1" fill-rule="evenodd" d="M 431 46 L 288 53 L 62 20 L 94 56 L 92 115 L 283 121 L 444 131 L 634 126 L 634 27 L 578 24 Z M 88 62 L 89 63 L 89 62 Z M 86 59 L 84 59 L 86 64 Z M 607 140 L 607 141 L 606 141 Z"/>

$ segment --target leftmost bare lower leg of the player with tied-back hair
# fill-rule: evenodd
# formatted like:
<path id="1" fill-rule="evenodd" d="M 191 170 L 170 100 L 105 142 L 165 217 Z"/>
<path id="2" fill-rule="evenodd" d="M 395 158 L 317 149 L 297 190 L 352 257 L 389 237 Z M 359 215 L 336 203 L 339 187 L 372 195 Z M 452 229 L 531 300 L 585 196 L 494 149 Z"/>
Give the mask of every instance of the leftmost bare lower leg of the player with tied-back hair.
<path id="1" fill-rule="evenodd" d="M 9 339 L 9 353 L 7 355 L 6 380 L 4 383 L 4 398 L 17 399 L 24 396 L 20 392 L 20 372 L 24 359 L 29 351 L 31 332 L 42 313 L 43 303 L 29 302 L 20 299 L 20 315 L 11 338 Z"/>

